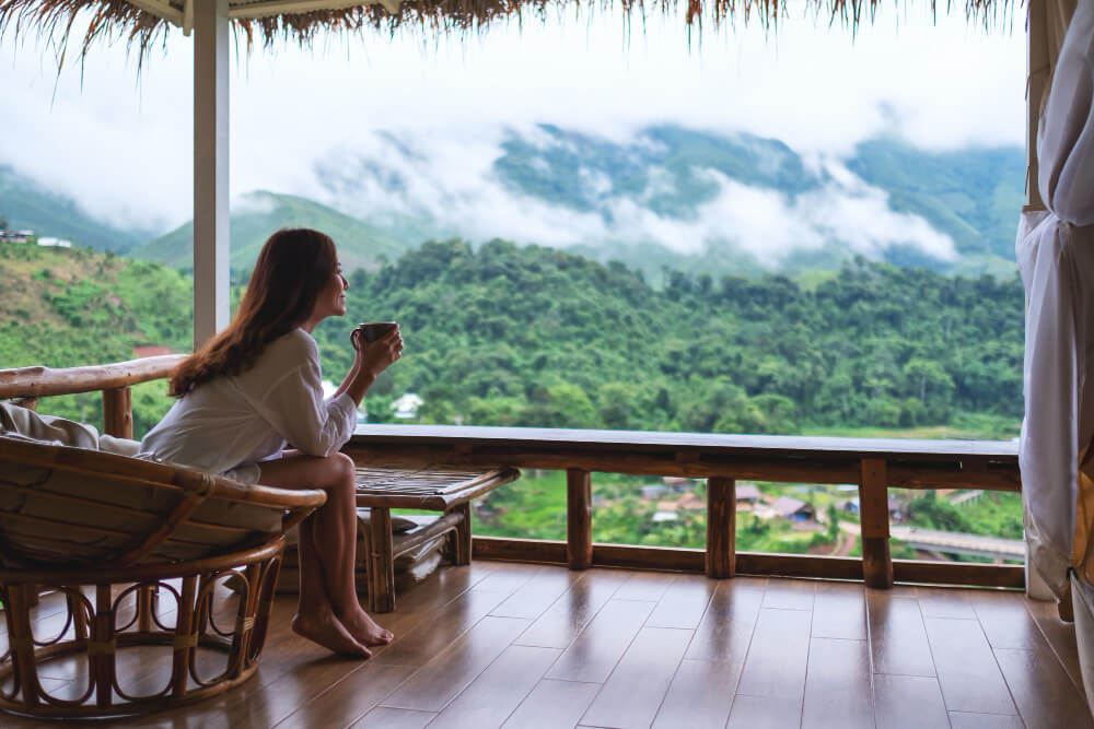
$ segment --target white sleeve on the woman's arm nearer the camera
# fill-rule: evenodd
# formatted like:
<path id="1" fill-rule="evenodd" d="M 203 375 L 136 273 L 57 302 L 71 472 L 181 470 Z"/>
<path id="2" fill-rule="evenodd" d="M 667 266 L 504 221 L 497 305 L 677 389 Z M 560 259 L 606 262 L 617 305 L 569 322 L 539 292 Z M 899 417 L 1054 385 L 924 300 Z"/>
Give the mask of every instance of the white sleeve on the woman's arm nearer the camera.
<path id="1" fill-rule="evenodd" d="M 261 399 L 259 414 L 309 456 L 337 451 L 357 427 L 357 403 L 347 393 L 323 399 L 318 354 L 281 377 Z"/>

